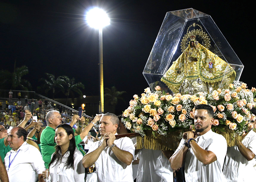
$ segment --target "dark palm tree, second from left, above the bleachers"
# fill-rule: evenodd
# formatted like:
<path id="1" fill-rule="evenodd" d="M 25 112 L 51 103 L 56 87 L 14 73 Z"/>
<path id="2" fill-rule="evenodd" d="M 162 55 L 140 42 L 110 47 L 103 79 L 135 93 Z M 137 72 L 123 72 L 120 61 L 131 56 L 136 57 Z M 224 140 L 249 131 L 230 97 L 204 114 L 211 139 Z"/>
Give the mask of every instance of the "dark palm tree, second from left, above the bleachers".
<path id="1" fill-rule="evenodd" d="M 63 80 L 61 76 L 55 79 L 54 75 L 49 73 L 45 74 L 47 76 L 47 79 L 42 78 L 40 80 L 44 82 L 45 93 L 47 93 L 49 90 L 52 90 L 52 100 L 54 100 L 56 88 L 60 88 L 63 91 L 64 87 L 62 85 L 64 84 L 65 80 Z"/>

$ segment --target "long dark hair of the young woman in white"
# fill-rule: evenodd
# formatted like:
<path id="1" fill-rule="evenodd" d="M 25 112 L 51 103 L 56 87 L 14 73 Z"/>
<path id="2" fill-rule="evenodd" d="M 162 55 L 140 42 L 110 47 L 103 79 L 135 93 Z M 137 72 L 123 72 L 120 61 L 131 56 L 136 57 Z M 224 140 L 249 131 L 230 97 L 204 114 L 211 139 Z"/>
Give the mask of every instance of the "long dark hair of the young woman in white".
<path id="1" fill-rule="evenodd" d="M 69 151 L 69 156 L 68 156 L 68 160 L 67 160 L 66 164 L 64 165 L 64 167 L 66 166 L 66 169 L 69 169 L 69 168 L 74 169 L 74 153 L 75 153 L 75 150 L 76 150 L 76 140 L 75 140 L 74 131 L 73 131 L 72 127 L 70 125 L 68 125 L 68 124 L 58 125 L 56 127 L 56 129 L 57 128 L 63 128 L 66 131 L 66 133 L 68 134 L 68 136 L 70 134 L 73 135 L 71 140 L 69 140 L 70 143 L 69 143 L 68 150 L 67 150 L 67 152 Z M 60 146 L 57 145 L 55 148 L 56 148 L 56 151 L 54 152 L 54 154 L 52 156 L 52 160 L 49 163 L 49 167 L 55 161 L 56 161 L 56 163 L 53 166 L 57 165 L 57 163 L 59 163 L 61 161 L 61 159 L 62 159 L 62 154 L 61 154 Z"/>

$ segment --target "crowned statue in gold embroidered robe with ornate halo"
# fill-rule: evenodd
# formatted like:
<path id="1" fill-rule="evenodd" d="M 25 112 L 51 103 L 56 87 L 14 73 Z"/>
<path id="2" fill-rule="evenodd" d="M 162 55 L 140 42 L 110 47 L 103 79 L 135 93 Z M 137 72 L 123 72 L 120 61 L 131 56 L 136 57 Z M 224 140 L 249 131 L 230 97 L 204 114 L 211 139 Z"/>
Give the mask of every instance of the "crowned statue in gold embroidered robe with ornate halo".
<path id="1" fill-rule="evenodd" d="M 195 27 L 195 23 L 193 26 Z M 181 94 L 190 95 L 197 92 L 210 93 L 219 88 L 222 80 L 221 87 L 223 88 L 228 87 L 229 83 L 232 83 L 236 78 L 235 70 L 220 57 L 198 43 L 196 35 L 201 37 L 203 35 L 204 38 L 208 36 L 203 32 L 202 27 L 201 30 L 188 31 L 182 40 L 184 45 L 185 39 L 190 38 L 191 41 L 188 47 L 161 78 L 161 81 L 174 93 L 180 92 Z M 209 43 L 206 46 L 210 47 Z"/>

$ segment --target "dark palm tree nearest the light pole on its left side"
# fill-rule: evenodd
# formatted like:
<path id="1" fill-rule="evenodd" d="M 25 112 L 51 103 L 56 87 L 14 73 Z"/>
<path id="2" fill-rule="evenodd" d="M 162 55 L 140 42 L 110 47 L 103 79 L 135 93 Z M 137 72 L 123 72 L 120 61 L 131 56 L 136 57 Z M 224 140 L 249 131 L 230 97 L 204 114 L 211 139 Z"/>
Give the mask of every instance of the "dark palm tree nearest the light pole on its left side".
<path id="1" fill-rule="evenodd" d="M 74 98 L 74 92 L 78 93 L 79 95 L 83 95 L 80 88 L 84 89 L 84 84 L 81 82 L 75 83 L 75 78 L 69 79 L 67 76 L 62 76 L 62 79 L 65 80 L 65 91 L 64 94 L 67 96 L 66 105 L 68 104 L 68 97 L 71 94 Z"/>

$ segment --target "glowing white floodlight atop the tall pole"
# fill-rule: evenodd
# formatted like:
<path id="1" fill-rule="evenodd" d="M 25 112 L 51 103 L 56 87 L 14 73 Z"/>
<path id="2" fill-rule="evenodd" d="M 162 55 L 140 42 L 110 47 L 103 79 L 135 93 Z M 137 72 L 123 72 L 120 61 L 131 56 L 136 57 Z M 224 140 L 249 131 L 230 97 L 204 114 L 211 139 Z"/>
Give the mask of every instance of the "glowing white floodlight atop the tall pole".
<path id="1" fill-rule="evenodd" d="M 86 20 L 90 27 L 97 29 L 110 24 L 110 19 L 108 18 L 107 13 L 99 8 L 93 8 L 90 10 L 86 15 Z"/>

